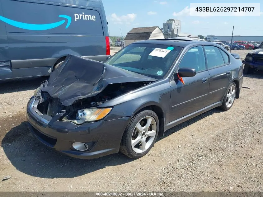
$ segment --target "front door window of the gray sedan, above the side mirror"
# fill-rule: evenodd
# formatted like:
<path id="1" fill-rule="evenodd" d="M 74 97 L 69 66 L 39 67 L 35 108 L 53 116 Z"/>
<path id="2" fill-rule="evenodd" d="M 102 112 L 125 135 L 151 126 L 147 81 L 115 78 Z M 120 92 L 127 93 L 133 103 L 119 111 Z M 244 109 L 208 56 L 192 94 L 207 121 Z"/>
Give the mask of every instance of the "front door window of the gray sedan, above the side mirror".
<path id="1" fill-rule="evenodd" d="M 181 60 L 179 68 L 195 68 L 196 72 L 205 70 L 203 47 L 197 46 L 189 49 Z"/>

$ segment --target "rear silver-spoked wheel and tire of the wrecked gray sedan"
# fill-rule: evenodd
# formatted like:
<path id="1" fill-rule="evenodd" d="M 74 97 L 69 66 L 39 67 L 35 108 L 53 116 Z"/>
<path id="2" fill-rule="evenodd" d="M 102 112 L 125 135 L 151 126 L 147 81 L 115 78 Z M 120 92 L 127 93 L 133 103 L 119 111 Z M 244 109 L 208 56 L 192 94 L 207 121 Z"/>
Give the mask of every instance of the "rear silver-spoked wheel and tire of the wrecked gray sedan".
<path id="1" fill-rule="evenodd" d="M 233 93 L 233 90 L 234 90 L 234 93 Z M 230 91 L 232 92 L 231 94 L 230 94 Z M 220 106 L 220 108 L 224 111 L 229 110 L 234 104 L 234 101 L 236 99 L 236 94 L 237 94 L 237 86 L 234 82 L 232 82 L 228 86 L 228 91 L 226 92 L 224 96 L 223 103 Z"/>

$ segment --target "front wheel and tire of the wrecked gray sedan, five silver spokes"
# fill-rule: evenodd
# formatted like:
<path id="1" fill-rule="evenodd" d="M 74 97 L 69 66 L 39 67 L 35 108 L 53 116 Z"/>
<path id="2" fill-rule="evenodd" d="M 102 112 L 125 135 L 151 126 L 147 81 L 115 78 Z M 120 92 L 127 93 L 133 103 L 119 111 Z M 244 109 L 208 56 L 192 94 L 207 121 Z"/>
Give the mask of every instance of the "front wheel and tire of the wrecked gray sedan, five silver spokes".
<path id="1" fill-rule="evenodd" d="M 148 121 L 148 125 L 150 126 L 147 129 Z M 140 130 L 142 132 L 137 129 L 138 124 L 141 126 Z M 157 139 L 158 132 L 159 120 L 156 113 L 154 113 L 152 110 L 143 110 L 138 112 L 129 121 L 124 130 L 124 134 L 120 143 L 120 152 L 133 159 L 143 157 L 153 147 L 153 144 Z M 153 134 L 155 135 L 153 136 Z M 134 143 L 132 143 L 132 140 Z M 142 143 L 144 144 L 144 147 L 142 146 Z"/>

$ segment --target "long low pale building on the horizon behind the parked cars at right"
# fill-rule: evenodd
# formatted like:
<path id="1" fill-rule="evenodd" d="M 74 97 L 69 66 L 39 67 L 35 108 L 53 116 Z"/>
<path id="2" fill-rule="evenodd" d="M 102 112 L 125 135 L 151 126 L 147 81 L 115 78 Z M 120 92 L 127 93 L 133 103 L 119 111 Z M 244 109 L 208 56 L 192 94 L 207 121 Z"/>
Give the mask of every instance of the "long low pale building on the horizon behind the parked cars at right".
<path id="1" fill-rule="evenodd" d="M 216 36 L 216 35 L 208 35 L 206 37 L 208 41 L 228 41 L 231 42 L 231 36 Z M 233 36 L 232 41 L 247 41 L 247 42 L 262 42 L 263 36 Z"/>

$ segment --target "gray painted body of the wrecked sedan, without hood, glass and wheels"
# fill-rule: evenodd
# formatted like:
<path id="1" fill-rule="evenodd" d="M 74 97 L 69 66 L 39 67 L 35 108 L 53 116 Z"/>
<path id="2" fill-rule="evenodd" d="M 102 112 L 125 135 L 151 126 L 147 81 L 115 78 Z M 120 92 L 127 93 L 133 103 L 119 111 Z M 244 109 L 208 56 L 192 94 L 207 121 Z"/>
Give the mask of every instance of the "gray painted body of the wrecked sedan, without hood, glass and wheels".
<path id="1" fill-rule="evenodd" d="M 182 40 L 144 40 L 136 43 L 180 46 L 183 49 L 163 79 L 154 81 L 97 106 L 98 108 L 113 107 L 110 114 L 100 121 L 76 125 L 72 122 L 59 121 L 64 116 L 62 113 L 59 113 L 48 124 L 44 124 L 37 117 L 37 113 L 31 112 L 32 109 L 35 110 L 36 108 L 30 107 L 35 100 L 32 97 L 27 109 L 27 119 L 30 127 L 32 127 L 30 128 L 31 132 L 42 143 L 46 143 L 46 141 L 37 132 L 56 138 L 57 143 L 52 147 L 69 156 L 95 158 L 119 151 L 120 141 L 129 120 L 145 107 L 151 107 L 152 110 L 159 109 L 156 111 L 158 112 L 161 125 L 159 134 L 164 134 L 164 131 L 167 129 L 220 106 L 229 85 L 233 81 L 237 83 L 236 98 L 238 98 L 243 82 L 242 62 L 239 59 L 235 59 L 223 47 L 211 42 Z M 212 45 L 223 50 L 228 54 L 230 64 L 200 71 L 194 77 L 184 77 L 185 85 L 183 85 L 176 75 L 182 57 L 190 48 L 204 45 Z M 205 59 L 207 59 L 206 55 Z M 206 68 L 208 68 L 207 61 Z M 228 71 L 230 71 L 229 74 Z M 204 78 L 207 79 L 203 83 Z M 120 82 L 120 80 L 112 78 L 112 83 L 114 82 Z M 96 141 L 96 145 L 87 152 L 74 152 L 70 150 L 70 144 L 72 141 L 77 140 L 89 143 Z"/>

